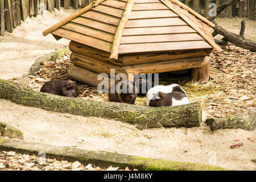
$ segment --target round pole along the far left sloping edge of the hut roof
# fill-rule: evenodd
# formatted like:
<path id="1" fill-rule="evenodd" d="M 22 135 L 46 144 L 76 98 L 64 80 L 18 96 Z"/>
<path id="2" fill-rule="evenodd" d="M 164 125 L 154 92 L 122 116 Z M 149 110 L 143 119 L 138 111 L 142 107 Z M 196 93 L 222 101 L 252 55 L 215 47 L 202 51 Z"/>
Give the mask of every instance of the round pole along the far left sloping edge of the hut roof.
<path id="1" fill-rule="evenodd" d="M 100 3 L 104 2 L 106 0 L 98 0 L 98 1 L 93 1 L 90 3 L 90 5 L 84 7 L 83 9 L 77 11 L 76 13 L 72 14 L 71 16 L 68 16 L 68 18 L 65 18 L 61 20 L 59 23 L 54 24 L 53 26 L 47 28 L 47 30 L 43 31 L 43 36 L 48 35 L 49 33 L 57 30 L 59 27 L 63 26 L 64 24 L 70 22 L 72 19 L 77 18 L 77 16 L 80 16 L 81 14 L 85 13 L 86 11 L 89 11 L 93 7 L 96 7 L 100 5 Z"/>

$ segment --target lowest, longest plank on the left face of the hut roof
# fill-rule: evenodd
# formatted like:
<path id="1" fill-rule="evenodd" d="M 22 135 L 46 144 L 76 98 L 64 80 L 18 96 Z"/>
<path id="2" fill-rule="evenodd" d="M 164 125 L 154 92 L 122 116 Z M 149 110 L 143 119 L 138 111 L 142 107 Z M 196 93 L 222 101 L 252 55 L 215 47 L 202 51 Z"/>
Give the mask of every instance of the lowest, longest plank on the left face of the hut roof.
<path id="1" fill-rule="evenodd" d="M 106 42 L 104 40 L 96 39 L 88 35 L 82 35 L 77 32 L 70 30 L 65 30 L 64 28 L 59 28 L 58 30 L 52 32 L 53 35 L 60 36 L 75 42 L 85 44 L 90 47 L 100 49 L 102 51 L 110 52 L 112 49 L 112 43 Z"/>

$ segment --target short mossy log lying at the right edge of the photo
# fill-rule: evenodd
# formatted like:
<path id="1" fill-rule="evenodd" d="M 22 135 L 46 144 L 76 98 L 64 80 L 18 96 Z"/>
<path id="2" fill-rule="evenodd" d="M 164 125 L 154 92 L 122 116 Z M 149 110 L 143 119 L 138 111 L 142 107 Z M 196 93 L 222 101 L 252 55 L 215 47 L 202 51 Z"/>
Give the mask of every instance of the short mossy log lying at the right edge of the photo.
<path id="1" fill-rule="evenodd" d="M 210 118 L 205 121 L 210 130 L 218 129 L 243 129 L 252 131 L 256 125 L 256 108 L 252 107 L 242 116 L 232 116 L 228 118 Z"/>

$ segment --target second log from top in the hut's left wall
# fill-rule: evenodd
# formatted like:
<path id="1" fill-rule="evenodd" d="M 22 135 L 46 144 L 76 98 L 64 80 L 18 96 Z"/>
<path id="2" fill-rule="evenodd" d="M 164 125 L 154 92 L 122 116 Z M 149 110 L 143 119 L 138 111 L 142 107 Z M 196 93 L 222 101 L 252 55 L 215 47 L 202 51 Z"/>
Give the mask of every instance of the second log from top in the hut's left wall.
<path id="1" fill-rule="evenodd" d="M 109 75 L 110 69 L 115 69 L 115 74 L 122 73 L 122 67 L 118 65 L 111 64 L 107 61 L 93 59 L 92 57 L 79 55 L 77 53 L 72 52 L 70 55 L 70 60 L 78 67 L 82 67 L 96 73 L 106 73 Z"/>

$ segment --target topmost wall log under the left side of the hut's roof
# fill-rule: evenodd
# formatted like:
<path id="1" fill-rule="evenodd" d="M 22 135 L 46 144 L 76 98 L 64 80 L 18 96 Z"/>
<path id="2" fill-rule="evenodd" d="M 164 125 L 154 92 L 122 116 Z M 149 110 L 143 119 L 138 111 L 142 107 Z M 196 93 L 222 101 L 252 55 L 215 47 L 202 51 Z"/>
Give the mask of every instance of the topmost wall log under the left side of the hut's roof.
<path id="1" fill-rule="evenodd" d="M 80 55 L 93 57 L 94 59 L 98 59 L 101 61 L 109 61 L 110 53 L 101 51 L 99 49 L 86 46 L 85 44 L 81 44 L 78 42 L 71 41 L 69 43 L 69 49 L 72 52 L 79 53 Z"/>

